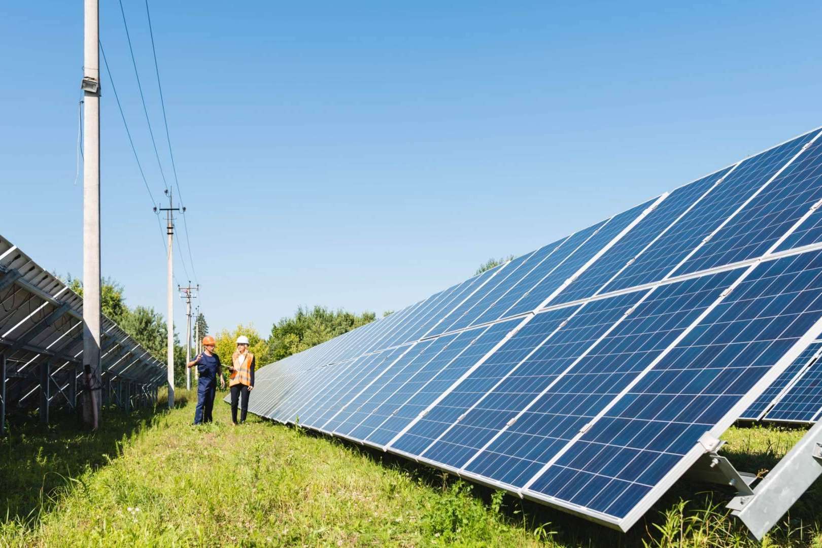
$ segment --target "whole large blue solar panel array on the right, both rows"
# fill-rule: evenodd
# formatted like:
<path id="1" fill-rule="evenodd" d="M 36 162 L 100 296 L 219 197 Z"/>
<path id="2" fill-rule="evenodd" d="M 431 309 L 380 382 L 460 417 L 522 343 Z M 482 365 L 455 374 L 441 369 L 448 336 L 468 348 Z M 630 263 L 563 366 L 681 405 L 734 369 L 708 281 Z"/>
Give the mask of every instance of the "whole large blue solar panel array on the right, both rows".
<path id="1" fill-rule="evenodd" d="M 808 397 L 771 414 L 822 408 L 820 150 L 810 131 L 263 367 L 250 410 L 627 530 L 766 389 L 760 412 L 787 387 Z"/>

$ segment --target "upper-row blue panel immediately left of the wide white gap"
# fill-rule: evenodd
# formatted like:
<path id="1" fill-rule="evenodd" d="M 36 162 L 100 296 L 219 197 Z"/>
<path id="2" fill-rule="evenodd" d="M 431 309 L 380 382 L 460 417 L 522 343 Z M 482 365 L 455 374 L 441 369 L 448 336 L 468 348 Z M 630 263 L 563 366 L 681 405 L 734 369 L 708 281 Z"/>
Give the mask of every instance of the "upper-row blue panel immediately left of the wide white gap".
<path id="1" fill-rule="evenodd" d="M 633 223 L 640 215 L 647 210 L 656 200 L 649 200 L 644 204 L 635 206 L 614 217 L 600 228 L 590 239 L 580 246 L 564 263 L 559 265 L 551 274 L 525 294 L 518 302 L 515 302 L 501 317 L 522 314 L 535 310 L 553 292 L 561 287 L 562 283 L 575 274 L 577 270 L 585 265 L 589 260 L 597 255 L 603 247 L 612 242 L 614 238 Z"/>

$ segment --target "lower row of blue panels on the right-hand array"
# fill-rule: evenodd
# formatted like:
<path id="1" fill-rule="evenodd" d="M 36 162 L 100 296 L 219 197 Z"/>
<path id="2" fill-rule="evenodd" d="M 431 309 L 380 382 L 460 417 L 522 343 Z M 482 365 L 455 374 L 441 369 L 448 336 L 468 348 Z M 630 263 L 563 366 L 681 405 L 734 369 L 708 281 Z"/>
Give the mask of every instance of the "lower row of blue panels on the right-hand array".
<path id="1" fill-rule="evenodd" d="M 259 380 L 252 411 L 616 521 L 801 351 L 820 273 L 815 251 L 446 334 Z"/>

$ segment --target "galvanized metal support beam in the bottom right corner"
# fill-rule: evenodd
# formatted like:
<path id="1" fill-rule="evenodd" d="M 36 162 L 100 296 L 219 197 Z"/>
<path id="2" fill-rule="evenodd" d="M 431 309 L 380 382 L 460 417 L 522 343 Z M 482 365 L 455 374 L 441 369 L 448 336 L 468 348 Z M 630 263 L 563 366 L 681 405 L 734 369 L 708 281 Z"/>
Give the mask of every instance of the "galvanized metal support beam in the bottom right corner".
<path id="1" fill-rule="evenodd" d="M 761 541 L 793 503 L 822 475 L 822 421 L 817 422 L 793 449 L 768 472 L 750 495 L 738 495 L 727 504 L 732 513 Z"/>

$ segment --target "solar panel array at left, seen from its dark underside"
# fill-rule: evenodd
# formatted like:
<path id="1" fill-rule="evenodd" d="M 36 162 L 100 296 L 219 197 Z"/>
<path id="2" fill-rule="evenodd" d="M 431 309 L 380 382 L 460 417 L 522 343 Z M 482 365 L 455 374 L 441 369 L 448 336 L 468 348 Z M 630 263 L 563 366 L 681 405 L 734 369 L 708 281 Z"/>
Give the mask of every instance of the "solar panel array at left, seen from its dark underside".
<path id="1" fill-rule="evenodd" d="M 83 385 L 82 326 L 82 297 L 0 237 L 3 417 L 15 409 L 42 409 L 43 398 L 47 407 L 75 405 Z M 104 397 L 134 403 L 150 398 L 150 391 L 164 383 L 164 364 L 112 320 L 103 317 L 101 329 Z"/>

